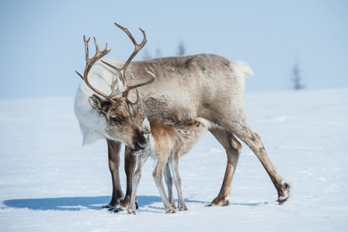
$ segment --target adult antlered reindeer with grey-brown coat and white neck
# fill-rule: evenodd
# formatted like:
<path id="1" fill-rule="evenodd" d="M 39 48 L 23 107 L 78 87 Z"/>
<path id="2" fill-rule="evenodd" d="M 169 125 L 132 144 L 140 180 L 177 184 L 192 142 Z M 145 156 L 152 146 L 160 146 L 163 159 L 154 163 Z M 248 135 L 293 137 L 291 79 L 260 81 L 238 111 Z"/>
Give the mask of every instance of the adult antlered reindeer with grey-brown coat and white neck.
<path id="1" fill-rule="evenodd" d="M 127 209 L 129 205 L 135 164 L 130 151 L 146 145 L 139 130 L 145 116 L 150 121 L 174 126 L 184 125 L 194 118 L 204 118 L 212 125 L 209 131 L 226 149 L 227 167 L 221 190 L 211 206 L 227 206 L 230 203 L 230 186 L 242 149 L 235 136 L 253 150 L 266 169 L 278 192 L 278 203 L 285 202 L 290 196 L 290 185 L 271 164 L 258 134 L 246 123 L 244 79 L 246 75 L 253 75 L 248 65 L 214 54 L 131 63 L 145 45 L 145 32 L 140 29 L 143 41 L 137 44 L 126 28 L 116 26 L 132 40 L 134 52 L 126 62 L 118 59 L 98 61 L 110 49 L 106 44 L 100 52 L 95 40 L 96 54 L 89 59 L 89 39 L 84 38 L 86 68 L 84 75 L 80 75 L 84 81 L 78 88 L 74 105 L 84 134 L 84 144 L 104 138 L 108 145 L 113 194 L 107 207 L 118 211 Z M 126 145 L 127 192 L 124 199 L 118 170 L 121 143 Z"/>

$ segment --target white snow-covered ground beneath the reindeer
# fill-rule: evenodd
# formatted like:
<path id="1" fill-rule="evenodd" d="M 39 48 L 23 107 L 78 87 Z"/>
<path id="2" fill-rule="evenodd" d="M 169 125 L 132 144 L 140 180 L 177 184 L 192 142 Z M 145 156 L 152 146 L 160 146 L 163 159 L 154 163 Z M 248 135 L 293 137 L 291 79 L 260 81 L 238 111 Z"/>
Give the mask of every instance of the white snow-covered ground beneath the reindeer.
<path id="1" fill-rule="evenodd" d="M 81 146 L 72 105 L 72 98 L 0 100 L 0 231 L 348 231 L 347 88 L 246 93 L 249 125 L 292 184 L 283 206 L 244 145 L 232 205 L 205 207 L 226 167 L 223 148 L 206 133 L 180 161 L 189 210 L 173 215 L 164 213 L 151 160 L 137 214 L 102 209 L 111 199 L 106 143 Z M 125 187 L 123 172 L 121 181 Z"/>

